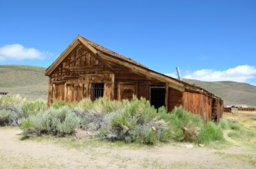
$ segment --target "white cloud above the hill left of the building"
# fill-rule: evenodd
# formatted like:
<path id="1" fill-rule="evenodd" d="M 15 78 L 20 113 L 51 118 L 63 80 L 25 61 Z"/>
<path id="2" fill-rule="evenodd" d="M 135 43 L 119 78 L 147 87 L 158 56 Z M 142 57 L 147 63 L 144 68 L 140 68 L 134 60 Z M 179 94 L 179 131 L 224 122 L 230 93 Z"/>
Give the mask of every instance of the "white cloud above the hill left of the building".
<path id="1" fill-rule="evenodd" d="M 24 59 L 44 59 L 49 52 L 41 52 L 36 48 L 26 48 L 20 44 L 4 45 L 0 47 L 0 61 Z"/>

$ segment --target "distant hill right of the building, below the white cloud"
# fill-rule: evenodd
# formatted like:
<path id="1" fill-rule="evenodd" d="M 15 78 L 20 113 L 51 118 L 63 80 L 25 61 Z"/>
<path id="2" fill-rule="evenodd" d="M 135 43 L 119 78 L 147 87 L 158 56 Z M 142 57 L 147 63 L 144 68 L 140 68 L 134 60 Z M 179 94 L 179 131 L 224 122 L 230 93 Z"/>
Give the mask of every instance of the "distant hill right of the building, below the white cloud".
<path id="1" fill-rule="evenodd" d="M 256 106 L 256 86 L 246 83 L 221 81 L 204 82 L 183 79 L 184 82 L 195 84 L 225 99 L 225 104 L 247 104 Z"/>

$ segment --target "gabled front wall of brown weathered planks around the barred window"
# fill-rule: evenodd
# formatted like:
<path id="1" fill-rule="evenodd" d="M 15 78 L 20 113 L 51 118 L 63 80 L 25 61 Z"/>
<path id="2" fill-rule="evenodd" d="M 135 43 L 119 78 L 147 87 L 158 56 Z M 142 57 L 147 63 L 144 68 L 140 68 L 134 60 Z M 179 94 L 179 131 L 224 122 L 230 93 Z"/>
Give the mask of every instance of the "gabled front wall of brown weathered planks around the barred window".
<path id="1" fill-rule="evenodd" d="M 104 96 L 113 99 L 114 78 L 92 52 L 79 45 L 51 73 L 48 103 L 54 99 L 72 102 L 90 98 L 93 83 L 104 83 Z"/>

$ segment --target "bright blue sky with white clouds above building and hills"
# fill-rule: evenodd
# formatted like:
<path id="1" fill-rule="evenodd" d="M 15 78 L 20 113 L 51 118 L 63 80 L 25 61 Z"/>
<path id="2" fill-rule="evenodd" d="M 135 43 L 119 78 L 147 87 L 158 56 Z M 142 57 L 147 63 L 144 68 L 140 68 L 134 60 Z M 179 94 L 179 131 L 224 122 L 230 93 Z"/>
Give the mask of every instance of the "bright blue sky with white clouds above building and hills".
<path id="1" fill-rule="evenodd" d="M 256 1 L 1 1 L 0 64 L 48 67 L 81 34 L 152 70 L 256 84 Z"/>

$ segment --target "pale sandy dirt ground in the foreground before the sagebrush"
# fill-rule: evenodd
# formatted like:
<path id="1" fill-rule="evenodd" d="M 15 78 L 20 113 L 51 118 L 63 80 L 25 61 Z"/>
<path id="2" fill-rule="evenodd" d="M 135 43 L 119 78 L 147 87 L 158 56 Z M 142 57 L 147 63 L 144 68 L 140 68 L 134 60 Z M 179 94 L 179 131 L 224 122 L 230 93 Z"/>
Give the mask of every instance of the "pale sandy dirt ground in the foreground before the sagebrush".
<path id="1" fill-rule="evenodd" d="M 0 168 L 254 168 L 223 158 L 221 151 L 173 145 L 129 149 L 66 149 L 55 143 L 20 140 L 18 128 L 0 128 Z M 247 152 L 246 152 L 247 153 Z"/>

